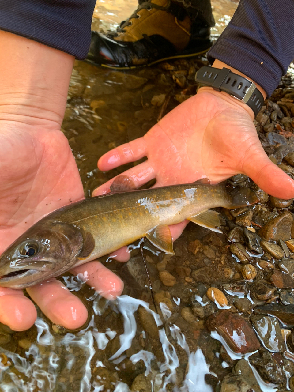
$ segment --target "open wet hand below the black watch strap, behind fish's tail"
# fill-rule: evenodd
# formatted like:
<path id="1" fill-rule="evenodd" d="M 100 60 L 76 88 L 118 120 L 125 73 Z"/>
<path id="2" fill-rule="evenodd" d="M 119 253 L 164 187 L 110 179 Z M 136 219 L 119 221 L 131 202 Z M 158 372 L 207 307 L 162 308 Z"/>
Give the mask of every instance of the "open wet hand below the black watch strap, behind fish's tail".
<path id="1" fill-rule="evenodd" d="M 252 110 L 211 87 L 178 105 L 142 138 L 123 144 L 98 161 L 107 171 L 147 156 L 124 175 L 136 187 L 156 178 L 155 187 L 208 178 L 218 183 L 234 174 L 249 176 L 263 191 L 294 197 L 294 181 L 270 161 L 258 139 Z M 93 195 L 109 192 L 113 180 Z"/>

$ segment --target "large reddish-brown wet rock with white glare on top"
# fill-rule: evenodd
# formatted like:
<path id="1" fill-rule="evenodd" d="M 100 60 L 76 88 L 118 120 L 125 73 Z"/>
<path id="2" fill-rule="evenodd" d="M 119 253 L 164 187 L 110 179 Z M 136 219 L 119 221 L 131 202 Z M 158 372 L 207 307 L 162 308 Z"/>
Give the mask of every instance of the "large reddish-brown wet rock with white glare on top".
<path id="1" fill-rule="evenodd" d="M 216 330 L 234 352 L 246 354 L 260 347 L 252 327 L 237 313 L 222 310 L 210 316 L 206 324 L 209 330 Z"/>

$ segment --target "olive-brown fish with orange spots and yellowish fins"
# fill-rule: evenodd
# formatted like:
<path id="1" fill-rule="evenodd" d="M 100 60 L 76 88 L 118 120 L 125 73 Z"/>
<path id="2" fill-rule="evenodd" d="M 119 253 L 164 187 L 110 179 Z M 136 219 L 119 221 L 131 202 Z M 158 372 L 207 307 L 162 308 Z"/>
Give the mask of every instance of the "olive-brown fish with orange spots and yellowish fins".
<path id="1" fill-rule="evenodd" d="M 53 211 L 25 231 L 0 258 L 0 286 L 31 287 L 143 237 L 174 254 L 169 225 L 188 219 L 222 232 L 211 208 L 236 209 L 259 200 L 247 187 L 230 191 L 189 183 L 129 190 L 124 182 L 118 180 L 113 192 Z"/>

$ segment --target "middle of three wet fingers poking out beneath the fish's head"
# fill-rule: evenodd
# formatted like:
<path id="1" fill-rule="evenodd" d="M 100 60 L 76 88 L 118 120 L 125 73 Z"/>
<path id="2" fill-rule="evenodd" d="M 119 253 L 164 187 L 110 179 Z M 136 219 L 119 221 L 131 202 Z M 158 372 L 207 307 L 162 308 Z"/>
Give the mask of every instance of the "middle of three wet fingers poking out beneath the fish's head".
<path id="1" fill-rule="evenodd" d="M 76 329 L 87 321 L 88 312 L 85 305 L 59 280 L 50 279 L 29 287 L 27 292 L 54 324 Z"/>

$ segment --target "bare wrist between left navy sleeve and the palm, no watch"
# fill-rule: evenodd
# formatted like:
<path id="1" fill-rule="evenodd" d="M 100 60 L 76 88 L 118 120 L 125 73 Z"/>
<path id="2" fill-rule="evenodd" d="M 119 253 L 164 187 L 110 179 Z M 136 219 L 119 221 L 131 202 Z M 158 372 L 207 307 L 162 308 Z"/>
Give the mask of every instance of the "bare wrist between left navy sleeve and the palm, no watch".
<path id="1" fill-rule="evenodd" d="M 0 120 L 61 125 L 74 57 L 0 31 Z"/>

